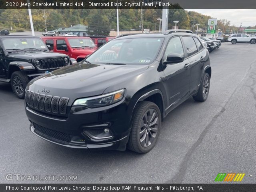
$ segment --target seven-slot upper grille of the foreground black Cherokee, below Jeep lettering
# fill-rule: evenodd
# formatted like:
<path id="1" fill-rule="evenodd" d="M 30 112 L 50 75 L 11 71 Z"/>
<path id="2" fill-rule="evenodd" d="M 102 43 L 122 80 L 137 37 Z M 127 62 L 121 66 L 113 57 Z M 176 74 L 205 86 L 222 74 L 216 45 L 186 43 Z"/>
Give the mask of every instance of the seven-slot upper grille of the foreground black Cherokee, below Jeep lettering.
<path id="1" fill-rule="evenodd" d="M 40 93 L 34 93 L 33 91 L 26 91 L 26 104 L 33 109 L 52 112 L 54 114 L 65 115 L 67 113 L 67 106 L 69 98 L 45 95 Z"/>

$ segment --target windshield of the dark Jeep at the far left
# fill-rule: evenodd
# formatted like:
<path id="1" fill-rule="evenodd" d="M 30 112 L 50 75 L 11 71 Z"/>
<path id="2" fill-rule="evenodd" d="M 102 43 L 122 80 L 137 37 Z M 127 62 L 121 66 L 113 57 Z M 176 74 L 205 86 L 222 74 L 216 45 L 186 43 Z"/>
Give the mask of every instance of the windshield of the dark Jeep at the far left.
<path id="1" fill-rule="evenodd" d="M 2 43 L 5 50 L 26 50 L 26 49 L 37 49 L 37 50 L 48 50 L 42 39 L 40 38 L 3 38 Z"/>

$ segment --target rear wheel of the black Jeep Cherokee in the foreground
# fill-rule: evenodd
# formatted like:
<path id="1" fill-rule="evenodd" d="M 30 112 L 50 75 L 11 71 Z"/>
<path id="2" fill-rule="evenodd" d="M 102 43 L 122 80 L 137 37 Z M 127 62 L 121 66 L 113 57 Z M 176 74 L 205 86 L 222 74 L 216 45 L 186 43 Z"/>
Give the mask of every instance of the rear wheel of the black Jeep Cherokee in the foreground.
<path id="1" fill-rule="evenodd" d="M 208 73 L 204 73 L 202 83 L 200 84 L 199 90 L 195 96 L 193 96 L 195 101 L 204 102 L 208 98 L 210 90 L 210 76 Z"/>

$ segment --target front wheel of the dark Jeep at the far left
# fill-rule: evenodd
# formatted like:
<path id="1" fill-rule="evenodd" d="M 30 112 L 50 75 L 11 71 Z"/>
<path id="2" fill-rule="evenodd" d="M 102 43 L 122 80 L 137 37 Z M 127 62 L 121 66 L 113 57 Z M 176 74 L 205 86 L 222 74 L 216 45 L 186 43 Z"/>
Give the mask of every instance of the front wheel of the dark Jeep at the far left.
<path id="1" fill-rule="evenodd" d="M 28 76 L 24 74 L 22 71 L 15 71 L 12 73 L 12 76 L 11 76 L 12 91 L 18 98 L 24 99 L 25 89 L 28 82 L 29 82 Z"/>

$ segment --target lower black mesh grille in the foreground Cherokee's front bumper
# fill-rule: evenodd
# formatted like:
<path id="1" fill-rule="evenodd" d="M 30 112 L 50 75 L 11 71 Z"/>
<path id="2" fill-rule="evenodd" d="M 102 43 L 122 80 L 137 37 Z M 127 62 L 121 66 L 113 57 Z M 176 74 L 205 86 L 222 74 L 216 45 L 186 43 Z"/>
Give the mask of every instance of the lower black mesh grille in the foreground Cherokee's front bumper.
<path id="1" fill-rule="evenodd" d="M 61 140 L 61 141 L 64 141 L 64 142 L 70 142 L 71 141 L 70 136 L 67 133 L 51 130 L 51 129 L 45 128 L 43 126 L 40 126 L 36 123 L 33 123 L 33 125 L 34 125 L 35 132 L 37 132 L 39 134 L 43 134 L 43 135 L 46 135 L 50 138 L 54 138 L 56 140 Z"/>

